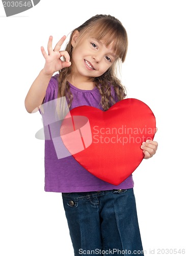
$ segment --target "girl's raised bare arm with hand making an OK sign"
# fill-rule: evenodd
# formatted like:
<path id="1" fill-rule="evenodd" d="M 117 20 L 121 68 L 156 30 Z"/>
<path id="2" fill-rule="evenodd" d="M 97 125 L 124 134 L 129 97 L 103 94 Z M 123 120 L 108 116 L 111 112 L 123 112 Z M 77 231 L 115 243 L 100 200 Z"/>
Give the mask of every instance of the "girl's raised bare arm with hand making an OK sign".
<path id="1" fill-rule="evenodd" d="M 52 36 L 50 36 L 47 45 L 48 54 L 45 52 L 44 48 L 41 47 L 41 52 L 43 54 L 43 57 L 45 58 L 45 65 L 33 82 L 28 94 L 26 95 L 24 105 L 26 111 L 28 111 L 29 113 L 34 113 L 40 108 L 52 75 L 56 71 L 59 71 L 71 65 L 68 52 L 60 51 L 65 39 L 66 36 L 63 36 L 53 50 Z M 65 57 L 65 61 L 61 60 L 61 57 Z"/>

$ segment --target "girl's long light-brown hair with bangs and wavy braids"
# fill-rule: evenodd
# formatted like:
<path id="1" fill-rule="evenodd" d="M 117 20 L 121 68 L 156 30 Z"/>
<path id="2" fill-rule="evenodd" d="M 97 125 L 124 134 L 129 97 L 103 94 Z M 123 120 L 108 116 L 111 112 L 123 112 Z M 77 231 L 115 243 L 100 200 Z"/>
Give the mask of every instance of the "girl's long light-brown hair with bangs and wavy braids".
<path id="1" fill-rule="evenodd" d="M 76 30 L 79 31 L 78 40 L 81 40 L 85 35 L 89 34 L 93 35 L 97 40 L 102 40 L 106 47 L 113 42 L 113 50 L 117 56 L 115 63 L 101 76 L 92 78 L 92 81 L 100 92 L 102 108 L 104 111 L 108 110 L 115 103 L 111 93 L 111 86 L 114 87 L 118 101 L 126 97 L 126 90 L 116 75 L 116 64 L 119 60 L 124 62 L 127 53 L 128 39 L 126 30 L 121 22 L 111 15 L 100 14 L 91 17 L 84 24 L 71 32 L 69 42 L 65 49 L 69 53 L 70 59 L 72 59 L 73 52 L 71 45 L 72 36 Z M 69 108 L 73 100 L 68 83 L 70 75 L 71 66 L 60 70 L 58 77 L 58 98 L 66 96 Z"/>

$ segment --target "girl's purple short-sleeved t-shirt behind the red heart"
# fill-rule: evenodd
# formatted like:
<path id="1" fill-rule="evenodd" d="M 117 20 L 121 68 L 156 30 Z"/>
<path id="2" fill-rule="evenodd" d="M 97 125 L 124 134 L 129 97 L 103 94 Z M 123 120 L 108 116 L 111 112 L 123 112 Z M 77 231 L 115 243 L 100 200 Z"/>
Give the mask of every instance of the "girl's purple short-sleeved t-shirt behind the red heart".
<path id="1" fill-rule="evenodd" d="M 43 103 L 49 103 L 49 101 L 57 99 L 58 75 L 51 77 Z M 81 90 L 70 84 L 70 91 L 73 95 L 70 110 L 81 105 L 90 105 L 103 110 L 100 104 L 101 96 L 96 87 L 93 90 Z M 51 131 L 48 132 L 48 136 L 50 133 Z M 57 157 L 54 141 L 46 139 L 45 133 L 45 191 L 71 193 L 132 187 L 134 187 L 132 175 L 118 186 L 115 186 L 90 174 L 73 156 Z"/>

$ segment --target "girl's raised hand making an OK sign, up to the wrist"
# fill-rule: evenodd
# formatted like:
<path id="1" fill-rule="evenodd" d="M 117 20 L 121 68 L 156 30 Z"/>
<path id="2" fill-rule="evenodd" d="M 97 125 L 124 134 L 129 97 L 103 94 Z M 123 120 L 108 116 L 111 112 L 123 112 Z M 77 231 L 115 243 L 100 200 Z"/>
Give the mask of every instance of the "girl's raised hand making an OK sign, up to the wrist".
<path id="1" fill-rule="evenodd" d="M 56 71 L 59 71 L 63 68 L 69 67 L 71 65 L 70 56 L 67 51 L 60 51 L 63 42 L 65 41 L 66 36 L 64 35 L 54 50 L 52 49 L 52 36 L 49 37 L 47 50 L 48 54 L 45 52 L 44 47 L 41 47 L 41 52 L 45 58 L 45 65 L 43 68 L 43 73 L 45 75 L 53 75 Z M 65 60 L 62 60 L 61 57 L 64 57 Z"/>

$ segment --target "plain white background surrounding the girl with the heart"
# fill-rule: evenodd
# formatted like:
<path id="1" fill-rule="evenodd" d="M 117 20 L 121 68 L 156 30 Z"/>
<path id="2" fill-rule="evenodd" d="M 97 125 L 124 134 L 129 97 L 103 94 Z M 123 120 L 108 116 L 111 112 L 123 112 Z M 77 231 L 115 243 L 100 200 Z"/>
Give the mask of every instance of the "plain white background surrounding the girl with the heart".
<path id="1" fill-rule="evenodd" d="M 144 101 L 156 117 L 158 151 L 134 173 L 144 250 L 163 255 L 158 248 L 185 249 L 184 5 L 180 0 L 41 0 L 6 17 L 1 4 L 2 256 L 73 255 L 61 194 L 44 191 L 44 141 L 35 138 L 41 116 L 26 112 L 24 98 L 43 68 L 40 47 L 46 49 L 49 35 L 55 45 L 95 14 L 116 16 L 126 28 L 122 81 L 128 97 Z"/>

